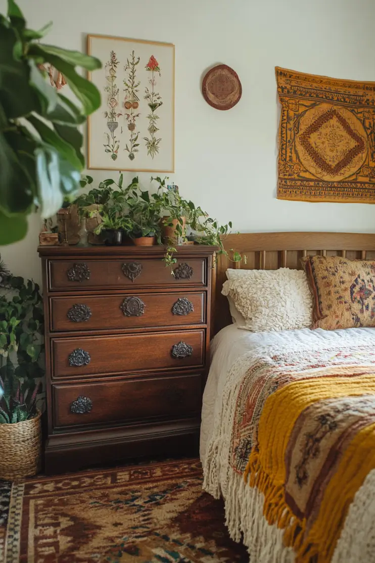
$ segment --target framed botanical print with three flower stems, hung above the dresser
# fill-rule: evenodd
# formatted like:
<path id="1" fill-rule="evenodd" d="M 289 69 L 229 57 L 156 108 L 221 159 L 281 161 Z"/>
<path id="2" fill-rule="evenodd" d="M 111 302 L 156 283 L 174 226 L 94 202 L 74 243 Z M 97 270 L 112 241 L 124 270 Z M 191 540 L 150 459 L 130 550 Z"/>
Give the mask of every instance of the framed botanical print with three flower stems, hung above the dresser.
<path id="1" fill-rule="evenodd" d="M 175 46 L 88 35 L 101 106 L 88 118 L 88 168 L 175 171 Z"/>

